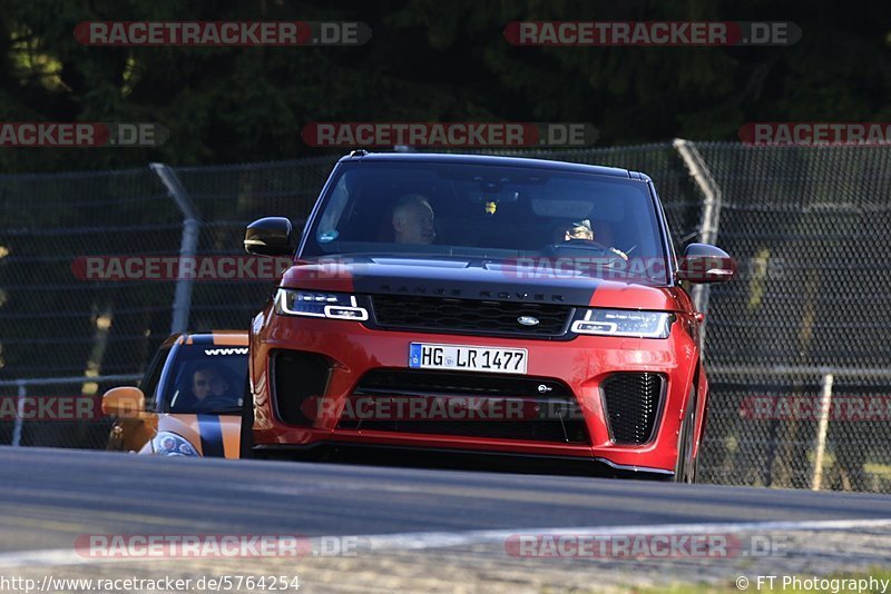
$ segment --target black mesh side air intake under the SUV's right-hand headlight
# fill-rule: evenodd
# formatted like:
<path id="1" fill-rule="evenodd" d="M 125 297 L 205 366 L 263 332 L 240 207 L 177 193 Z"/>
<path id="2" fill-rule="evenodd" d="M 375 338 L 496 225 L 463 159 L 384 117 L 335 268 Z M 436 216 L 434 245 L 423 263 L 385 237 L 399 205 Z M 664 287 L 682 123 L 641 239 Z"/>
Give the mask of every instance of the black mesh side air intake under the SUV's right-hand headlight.
<path id="1" fill-rule="evenodd" d="M 600 384 L 614 443 L 642 445 L 653 438 L 664 388 L 665 378 L 650 373 L 614 374 Z"/>

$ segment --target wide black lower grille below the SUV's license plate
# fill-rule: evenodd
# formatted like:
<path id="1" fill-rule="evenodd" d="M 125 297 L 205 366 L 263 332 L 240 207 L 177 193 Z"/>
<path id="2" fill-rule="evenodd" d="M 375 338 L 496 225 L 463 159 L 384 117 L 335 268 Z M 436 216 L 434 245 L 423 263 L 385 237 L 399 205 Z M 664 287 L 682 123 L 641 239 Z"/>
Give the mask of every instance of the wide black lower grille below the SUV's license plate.
<path id="1" fill-rule="evenodd" d="M 382 432 L 417 433 L 425 435 L 460 435 L 589 444 L 587 425 L 581 409 L 566 384 L 550 378 L 500 376 L 493 374 L 456 374 L 422 369 L 374 369 L 369 372 L 351 395 L 339 428 Z M 352 413 L 369 410 L 420 412 L 419 416 L 381 418 L 383 415 Z M 477 414 L 473 418 L 458 418 L 450 404 L 472 402 L 482 404 L 489 418 Z M 350 414 L 346 414 L 350 412 Z M 429 415 L 447 413 L 446 418 Z M 491 415 L 491 412 L 496 412 Z M 500 412 L 500 413 L 498 413 Z M 495 417 L 495 418 L 491 418 Z"/>

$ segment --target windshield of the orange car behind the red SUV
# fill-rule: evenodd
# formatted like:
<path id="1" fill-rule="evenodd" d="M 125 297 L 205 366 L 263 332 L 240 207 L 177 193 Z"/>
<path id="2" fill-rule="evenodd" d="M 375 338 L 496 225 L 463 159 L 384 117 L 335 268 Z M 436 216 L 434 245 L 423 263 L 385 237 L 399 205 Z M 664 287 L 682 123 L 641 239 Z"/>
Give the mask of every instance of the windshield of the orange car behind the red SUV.
<path id="1" fill-rule="evenodd" d="M 241 412 L 247 377 L 247 347 L 180 345 L 165 388 L 169 413 Z"/>

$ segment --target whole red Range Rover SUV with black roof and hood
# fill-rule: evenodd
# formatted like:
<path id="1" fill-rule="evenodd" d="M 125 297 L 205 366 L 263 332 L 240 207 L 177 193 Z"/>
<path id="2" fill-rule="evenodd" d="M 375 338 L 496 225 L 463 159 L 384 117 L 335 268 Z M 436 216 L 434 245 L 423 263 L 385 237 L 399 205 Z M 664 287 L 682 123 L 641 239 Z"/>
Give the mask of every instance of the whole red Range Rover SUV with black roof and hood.
<path id="1" fill-rule="evenodd" d="M 721 249 L 675 256 L 639 172 L 488 156 L 341 159 L 251 327 L 254 452 L 323 446 L 575 463 L 693 482 L 708 404 L 681 280 L 731 278 Z"/>

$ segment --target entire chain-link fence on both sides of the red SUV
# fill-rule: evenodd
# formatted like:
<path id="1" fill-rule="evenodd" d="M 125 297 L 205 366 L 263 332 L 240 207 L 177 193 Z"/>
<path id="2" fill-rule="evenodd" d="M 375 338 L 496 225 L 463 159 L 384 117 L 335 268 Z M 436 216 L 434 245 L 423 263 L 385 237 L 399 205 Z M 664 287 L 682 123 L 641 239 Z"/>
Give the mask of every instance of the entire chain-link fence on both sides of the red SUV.
<path id="1" fill-rule="evenodd" d="M 678 249 L 711 239 L 737 258 L 735 280 L 697 295 L 708 299 L 712 393 L 701 479 L 891 492 L 891 149 L 517 154 L 644 171 Z M 241 255 L 245 224 L 305 217 L 335 161 L 0 176 L 0 404 L 133 383 L 107 376 L 138 377 L 172 328 L 246 328 L 274 281 L 184 294 L 176 279 L 81 280 L 74 263 Z M 0 419 L 0 443 L 21 445 L 102 447 L 108 428 Z"/>

